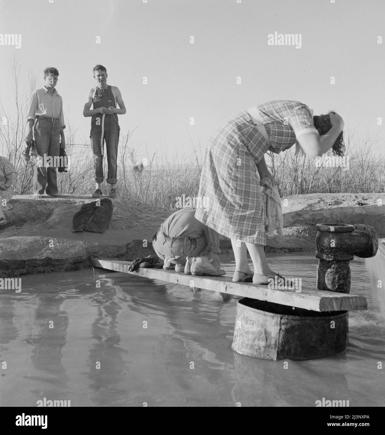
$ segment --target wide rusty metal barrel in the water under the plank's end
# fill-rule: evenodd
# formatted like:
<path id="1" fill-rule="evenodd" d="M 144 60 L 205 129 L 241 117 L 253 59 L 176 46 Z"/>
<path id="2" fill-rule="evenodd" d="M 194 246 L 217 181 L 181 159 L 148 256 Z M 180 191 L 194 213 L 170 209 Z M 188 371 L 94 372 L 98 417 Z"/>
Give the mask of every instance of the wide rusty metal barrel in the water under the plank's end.
<path id="1" fill-rule="evenodd" d="M 269 360 L 305 360 L 347 348 L 348 311 L 318 312 L 242 298 L 232 350 Z"/>

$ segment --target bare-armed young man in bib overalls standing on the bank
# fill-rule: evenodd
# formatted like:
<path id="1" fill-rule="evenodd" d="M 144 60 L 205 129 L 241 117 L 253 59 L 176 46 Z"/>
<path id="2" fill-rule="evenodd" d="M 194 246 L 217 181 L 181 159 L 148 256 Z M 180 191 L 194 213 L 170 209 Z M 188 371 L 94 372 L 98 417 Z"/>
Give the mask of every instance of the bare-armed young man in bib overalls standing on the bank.
<path id="1" fill-rule="evenodd" d="M 116 86 L 107 85 L 107 70 L 103 65 L 96 65 L 93 68 L 93 77 L 97 82 L 97 86 L 92 88 L 87 94 L 87 102 L 83 110 L 85 117 L 92 116 L 90 138 L 96 183 L 96 190 L 92 196 L 93 198 L 98 198 L 103 195 L 101 187 L 104 180 L 103 154 L 104 141 L 106 141 L 107 183 L 110 184 L 109 196 L 116 198 L 116 158 L 120 130 L 118 115 L 124 115 L 126 107 L 124 106 L 119 89 Z M 91 104 L 93 104 L 92 110 Z M 116 107 L 116 104 L 118 104 L 119 109 Z"/>

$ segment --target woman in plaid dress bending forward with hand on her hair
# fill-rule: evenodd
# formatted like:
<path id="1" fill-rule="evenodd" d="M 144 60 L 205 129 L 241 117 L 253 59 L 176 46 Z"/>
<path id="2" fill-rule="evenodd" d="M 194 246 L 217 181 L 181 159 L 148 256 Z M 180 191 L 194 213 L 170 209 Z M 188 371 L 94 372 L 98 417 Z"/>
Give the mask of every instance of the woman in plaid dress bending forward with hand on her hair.
<path id="1" fill-rule="evenodd" d="M 269 278 L 281 277 L 269 267 L 264 252 L 259 181 L 268 177 L 274 184 L 264 154 L 279 154 L 295 144 L 296 154 L 305 153 L 312 159 L 330 148 L 333 154 L 343 155 L 343 127 L 335 112 L 313 117 L 309 107 L 299 101 L 273 100 L 239 113 L 212 135 L 198 194 L 209 198 L 210 208 L 196 209 L 195 218 L 231 239 L 236 261 L 233 281 L 268 284 Z"/>

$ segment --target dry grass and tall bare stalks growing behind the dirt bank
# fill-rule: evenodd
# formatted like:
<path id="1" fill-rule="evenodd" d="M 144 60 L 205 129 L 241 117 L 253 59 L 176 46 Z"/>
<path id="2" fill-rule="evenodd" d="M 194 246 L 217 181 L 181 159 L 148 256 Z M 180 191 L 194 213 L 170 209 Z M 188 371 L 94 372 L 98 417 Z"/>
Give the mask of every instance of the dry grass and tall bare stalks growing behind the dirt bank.
<path id="1" fill-rule="evenodd" d="M 15 94 L 14 106 L 5 109 L 0 100 L 0 154 L 7 157 L 14 167 L 14 194 L 31 194 L 34 159 L 25 163 L 20 154 L 25 147 L 28 101 L 36 79 L 28 77 L 27 91 L 19 89 L 20 63 L 14 58 L 12 85 Z M 12 114 L 12 116 L 11 116 Z M 93 156 L 91 147 L 71 145 L 76 131 L 67 120 L 65 130 L 67 154 L 71 157 L 70 171 L 58 174 L 58 187 L 61 193 L 91 194 L 94 189 Z M 137 149 L 128 146 L 134 133 L 129 131 L 120 137 L 118 157 L 119 196 L 157 207 L 175 210 L 176 198 L 183 194 L 195 197 L 199 191 L 199 178 L 202 167 L 202 151 L 195 147 L 193 154 L 168 157 L 163 150 L 138 162 Z M 353 141 L 354 139 L 354 141 Z M 341 167 L 315 167 L 309 158 L 294 155 L 294 148 L 281 154 L 268 153 L 267 162 L 271 168 L 281 197 L 308 193 L 376 193 L 385 191 L 385 157 L 373 157 L 373 141 L 360 140 L 348 136 L 346 155 L 349 169 Z M 351 150 L 354 145 L 356 151 Z M 141 154 L 143 151 L 141 151 Z M 106 174 L 106 159 L 104 173 Z"/>

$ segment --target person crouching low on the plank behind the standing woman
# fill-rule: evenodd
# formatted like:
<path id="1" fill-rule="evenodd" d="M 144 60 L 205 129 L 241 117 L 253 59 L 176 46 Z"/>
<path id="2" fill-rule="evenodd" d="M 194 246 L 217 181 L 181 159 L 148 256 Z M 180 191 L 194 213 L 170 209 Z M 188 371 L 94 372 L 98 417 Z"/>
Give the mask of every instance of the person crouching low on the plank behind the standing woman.
<path id="1" fill-rule="evenodd" d="M 164 260 L 163 268 L 193 275 L 221 276 L 219 234 L 194 217 L 194 208 L 182 208 L 169 216 L 153 236 L 153 248 Z M 206 257 L 202 254 L 207 253 Z"/>

